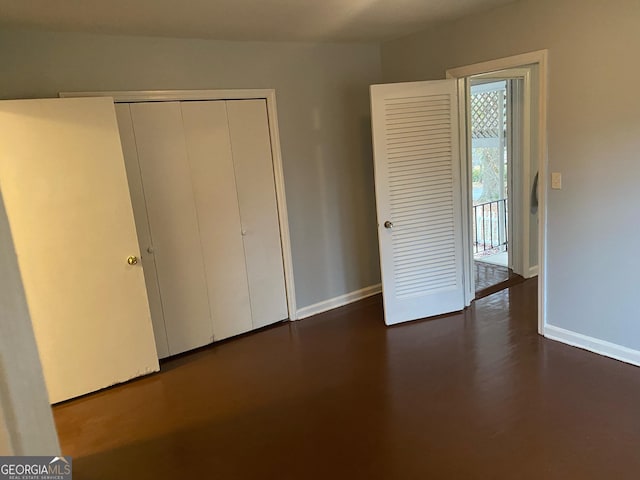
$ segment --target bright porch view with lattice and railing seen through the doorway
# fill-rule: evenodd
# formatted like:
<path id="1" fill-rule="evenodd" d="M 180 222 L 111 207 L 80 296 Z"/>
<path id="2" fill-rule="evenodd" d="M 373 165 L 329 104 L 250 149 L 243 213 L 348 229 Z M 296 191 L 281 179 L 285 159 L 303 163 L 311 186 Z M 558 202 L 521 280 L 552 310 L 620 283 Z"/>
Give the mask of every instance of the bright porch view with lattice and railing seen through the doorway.
<path id="1" fill-rule="evenodd" d="M 524 125 L 523 78 L 479 75 L 469 81 L 471 236 L 476 298 L 524 278 L 513 271 L 514 184 L 520 183 Z M 515 247 L 515 248 L 514 248 Z"/>

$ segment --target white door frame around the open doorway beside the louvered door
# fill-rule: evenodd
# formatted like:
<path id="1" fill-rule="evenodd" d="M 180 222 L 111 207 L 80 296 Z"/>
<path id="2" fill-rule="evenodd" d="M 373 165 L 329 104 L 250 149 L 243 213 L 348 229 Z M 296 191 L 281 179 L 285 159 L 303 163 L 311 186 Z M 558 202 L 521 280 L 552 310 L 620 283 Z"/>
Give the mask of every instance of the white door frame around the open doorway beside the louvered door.
<path id="1" fill-rule="evenodd" d="M 501 70 L 515 69 L 520 67 L 526 67 L 529 65 L 538 66 L 538 105 L 532 105 L 532 108 L 538 109 L 538 333 L 544 335 L 544 328 L 546 324 L 546 226 L 547 226 L 547 202 L 546 202 L 546 172 L 547 172 L 547 63 L 548 63 L 548 50 L 538 50 L 535 52 L 524 53 L 521 55 L 515 55 L 512 57 L 500 58 L 496 60 L 490 60 L 487 62 L 476 63 L 473 65 L 467 65 L 447 70 L 447 78 L 453 78 L 458 80 L 458 94 L 460 98 L 466 98 L 465 79 L 471 76 L 480 74 L 490 74 L 492 72 L 498 72 Z M 466 110 L 465 102 L 461 103 L 461 109 Z M 461 110 L 461 125 L 460 125 L 460 138 L 464 142 L 461 145 L 461 155 L 467 157 L 470 156 L 469 148 L 470 142 L 467 141 L 466 135 L 466 122 L 467 112 Z M 466 158 L 462 159 L 462 164 L 466 166 Z M 467 168 L 462 168 L 462 181 L 463 185 L 468 183 Z M 464 190 L 467 190 L 466 193 Z M 468 188 L 463 189 L 463 195 L 466 195 L 467 203 L 470 205 L 471 199 L 468 192 Z M 463 198 L 465 198 L 463 196 Z M 470 208 L 463 209 L 463 225 L 465 227 L 464 242 L 465 242 L 465 276 L 471 278 L 471 272 L 473 267 L 473 257 L 471 255 L 471 218 Z M 528 239 L 527 239 L 528 241 Z M 471 291 L 470 286 L 473 282 L 466 282 L 467 289 L 466 295 L 469 304 L 475 292 Z"/>

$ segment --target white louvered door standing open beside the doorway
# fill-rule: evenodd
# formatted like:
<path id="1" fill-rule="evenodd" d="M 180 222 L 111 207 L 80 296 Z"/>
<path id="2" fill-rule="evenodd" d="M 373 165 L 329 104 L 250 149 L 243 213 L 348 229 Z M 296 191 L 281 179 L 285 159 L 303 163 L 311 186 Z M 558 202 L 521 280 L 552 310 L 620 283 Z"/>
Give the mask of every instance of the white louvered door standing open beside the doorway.
<path id="1" fill-rule="evenodd" d="M 464 308 L 455 80 L 371 87 L 387 325 Z"/>

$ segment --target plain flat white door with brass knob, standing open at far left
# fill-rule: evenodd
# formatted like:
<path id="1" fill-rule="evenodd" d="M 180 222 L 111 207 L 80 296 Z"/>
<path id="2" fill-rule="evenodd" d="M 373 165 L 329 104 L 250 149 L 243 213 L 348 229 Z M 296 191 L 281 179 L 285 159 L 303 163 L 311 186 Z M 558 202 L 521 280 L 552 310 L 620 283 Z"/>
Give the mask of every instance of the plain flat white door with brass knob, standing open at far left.
<path id="1" fill-rule="evenodd" d="M 113 100 L 0 102 L 0 186 L 50 401 L 157 371 Z"/>

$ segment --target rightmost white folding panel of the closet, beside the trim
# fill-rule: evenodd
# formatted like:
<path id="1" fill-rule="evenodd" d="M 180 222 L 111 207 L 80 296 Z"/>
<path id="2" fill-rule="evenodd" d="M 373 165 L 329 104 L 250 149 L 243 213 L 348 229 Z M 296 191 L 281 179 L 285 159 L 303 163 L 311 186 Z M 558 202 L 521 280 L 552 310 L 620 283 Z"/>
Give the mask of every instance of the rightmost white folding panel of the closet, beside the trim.
<path id="1" fill-rule="evenodd" d="M 288 317 L 265 100 L 227 101 L 254 328 Z"/>

